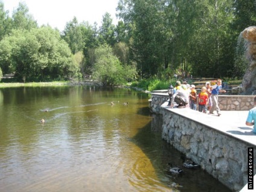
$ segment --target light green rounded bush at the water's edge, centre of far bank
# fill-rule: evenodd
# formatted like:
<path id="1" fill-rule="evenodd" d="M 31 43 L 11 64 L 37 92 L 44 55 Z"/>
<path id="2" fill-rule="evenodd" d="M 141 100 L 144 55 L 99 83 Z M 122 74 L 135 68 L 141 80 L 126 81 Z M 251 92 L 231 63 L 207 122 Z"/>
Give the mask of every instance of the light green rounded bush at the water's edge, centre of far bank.
<path id="1" fill-rule="evenodd" d="M 92 78 L 103 85 L 122 85 L 127 80 L 133 80 L 136 70 L 132 66 L 122 66 L 112 53 L 109 45 L 100 45 L 95 50 L 95 65 Z"/>

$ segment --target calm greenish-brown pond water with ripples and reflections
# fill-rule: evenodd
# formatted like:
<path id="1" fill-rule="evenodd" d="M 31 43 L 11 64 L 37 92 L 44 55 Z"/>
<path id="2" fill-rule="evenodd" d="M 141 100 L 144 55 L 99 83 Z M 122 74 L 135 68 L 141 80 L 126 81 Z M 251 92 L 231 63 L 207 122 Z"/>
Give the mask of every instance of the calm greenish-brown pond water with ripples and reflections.
<path id="1" fill-rule="evenodd" d="M 161 139 L 149 97 L 94 86 L 0 89 L 0 191 L 229 191 L 200 169 L 168 172 L 181 153 Z"/>

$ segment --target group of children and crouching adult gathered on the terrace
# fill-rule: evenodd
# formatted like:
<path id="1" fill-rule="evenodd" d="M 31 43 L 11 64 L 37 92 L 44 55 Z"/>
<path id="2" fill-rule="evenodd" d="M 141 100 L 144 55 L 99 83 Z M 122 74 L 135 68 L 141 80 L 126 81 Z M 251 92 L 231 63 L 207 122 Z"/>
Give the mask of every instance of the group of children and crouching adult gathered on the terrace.
<path id="1" fill-rule="evenodd" d="M 201 92 L 197 94 L 194 85 L 188 85 L 186 82 L 176 82 L 175 92 L 171 97 L 171 106 L 174 107 L 174 102 L 178 104 L 178 108 L 184 108 L 190 106 L 190 109 L 196 110 L 198 103 L 199 112 L 214 114 L 214 110 L 217 111 L 217 115 L 220 116 L 220 108 L 218 104 L 219 92 L 226 92 L 222 89 L 222 80 L 218 79 L 216 85 L 211 86 L 210 82 L 206 82 L 202 87 Z"/>

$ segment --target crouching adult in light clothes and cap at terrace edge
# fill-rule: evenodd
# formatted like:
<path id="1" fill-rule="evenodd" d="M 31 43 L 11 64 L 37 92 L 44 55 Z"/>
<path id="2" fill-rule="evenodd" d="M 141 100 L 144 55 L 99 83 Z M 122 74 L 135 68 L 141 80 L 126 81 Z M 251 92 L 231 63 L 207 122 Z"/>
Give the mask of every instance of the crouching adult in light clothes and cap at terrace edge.
<path id="1" fill-rule="evenodd" d="M 181 82 L 176 82 L 176 92 L 171 97 L 171 108 L 174 107 L 174 101 L 179 108 L 184 108 L 188 104 L 188 92 L 181 87 Z"/>

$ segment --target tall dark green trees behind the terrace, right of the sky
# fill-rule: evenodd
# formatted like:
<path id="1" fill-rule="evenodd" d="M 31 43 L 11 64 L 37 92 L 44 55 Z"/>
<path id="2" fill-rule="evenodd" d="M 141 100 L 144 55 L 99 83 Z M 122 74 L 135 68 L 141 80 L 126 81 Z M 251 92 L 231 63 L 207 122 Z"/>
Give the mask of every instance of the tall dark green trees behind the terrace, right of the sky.
<path id="1" fill-rule="evenodd" d="M 146 77 L 167 67 L 194 76 L 225 77 L 234 75 L 234 10 L 241 13 L 237 4 L 245 7 L 246 3 L 120 0 L 117 10 L 126 30 L 132 31 L 127 33 L 132 39 L 129 47 L 138 69 Z M 247 6 L 250 5 L 251 1 Z M 254 25 L 256 11 L 249 10 L 249 16 L 246 8 L 242 14 L 247 18 L 246 25 Z"/>

